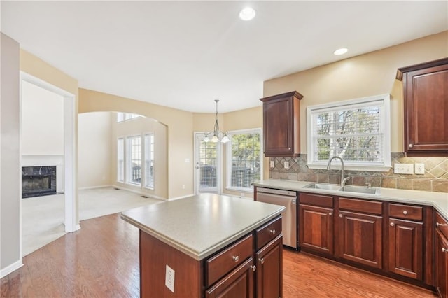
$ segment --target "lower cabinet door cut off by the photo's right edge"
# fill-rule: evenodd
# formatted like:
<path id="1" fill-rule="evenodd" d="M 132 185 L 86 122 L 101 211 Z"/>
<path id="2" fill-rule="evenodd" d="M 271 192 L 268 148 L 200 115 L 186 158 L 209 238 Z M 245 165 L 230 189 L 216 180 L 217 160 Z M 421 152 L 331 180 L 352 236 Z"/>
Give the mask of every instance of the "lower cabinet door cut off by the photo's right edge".
<path id="1" fill-rule="evenodd" d="M 435 288 L 442 298 L 448 297 L 448 240 L 435 229 Z"/>

